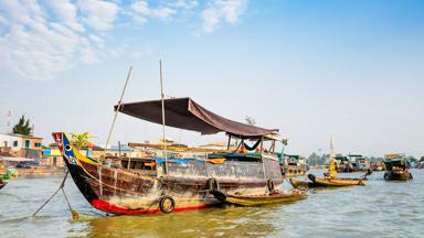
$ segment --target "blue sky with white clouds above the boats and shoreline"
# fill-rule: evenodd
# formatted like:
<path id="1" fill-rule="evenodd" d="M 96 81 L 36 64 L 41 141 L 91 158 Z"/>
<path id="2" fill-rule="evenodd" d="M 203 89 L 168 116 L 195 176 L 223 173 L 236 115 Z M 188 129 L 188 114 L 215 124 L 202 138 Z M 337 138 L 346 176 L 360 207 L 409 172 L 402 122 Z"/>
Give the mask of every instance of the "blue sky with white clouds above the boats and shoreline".
<path id="1" fill-rule="evenodd" d="M 420 0 L 0 1 L 0 132 L 91 132 L 104 144 L 124 101 L 192 97 L 226 118 L 277 128 L 286 152 L 424 155 Z M 119 115 L 117 141 L 161 127 Z M 225 140 L 167 128 L 189 144 Z"/>

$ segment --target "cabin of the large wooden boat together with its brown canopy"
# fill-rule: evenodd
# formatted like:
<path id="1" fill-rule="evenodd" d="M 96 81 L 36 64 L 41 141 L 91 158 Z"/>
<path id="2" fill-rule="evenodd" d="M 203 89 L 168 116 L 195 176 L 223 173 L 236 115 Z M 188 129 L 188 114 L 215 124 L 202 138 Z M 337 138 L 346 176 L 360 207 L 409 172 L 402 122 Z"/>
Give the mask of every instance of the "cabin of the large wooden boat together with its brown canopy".
<path id="1" fill-rule="evenodd" d="M 141 174 L 162 176 L 216 176 L 283 180 L 276 142 L 285 143 L 277 130 L 263 129 L 240 123 L 215 115 L 190 98 L 163 100 L 165 125 L 199 131 L 202 134 L 225 132 L 229 137 L 226 150 L 204 148 L 174 148 L 167 144 L 128 143 L 134 148 L 156 149 L 156 156 L 125 158 L 123 169 Z M 118 106 L 115 106 L 118 109 Z M 123 104 L 119 111 L 129 116 L 161 125 L 160 100 Z M 235 141 L 235 143 L 234 143 Z M 236 144 L 234 149 L 232 145 Z"/>

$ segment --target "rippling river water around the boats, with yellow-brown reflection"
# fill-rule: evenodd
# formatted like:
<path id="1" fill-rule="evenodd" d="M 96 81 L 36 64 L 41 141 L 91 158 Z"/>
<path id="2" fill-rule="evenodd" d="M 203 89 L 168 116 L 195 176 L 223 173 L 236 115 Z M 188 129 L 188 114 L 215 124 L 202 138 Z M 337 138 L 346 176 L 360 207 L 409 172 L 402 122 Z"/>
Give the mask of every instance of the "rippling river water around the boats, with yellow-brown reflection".
<path id="1" fill-rule="evenodd" d="M 82 216 L 77 221 L 62 194 L 28 218 L 63 175 L 20 177 L 0 191 L 0 237 L 424 237 L 424 170 L 412 173 L 413 181 L 400 183 L 374 172 L 367 186 L 312 190 L 294 204 L 142 216 L 105 216 L 68 180 L 65 192 Z"/>

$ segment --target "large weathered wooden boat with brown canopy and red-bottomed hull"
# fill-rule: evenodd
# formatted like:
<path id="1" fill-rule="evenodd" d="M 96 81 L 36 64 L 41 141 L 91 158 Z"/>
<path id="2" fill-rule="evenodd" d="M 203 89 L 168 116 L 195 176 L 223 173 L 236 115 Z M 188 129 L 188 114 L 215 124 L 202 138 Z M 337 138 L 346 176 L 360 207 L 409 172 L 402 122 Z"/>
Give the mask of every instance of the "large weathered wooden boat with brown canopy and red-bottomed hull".
<path id="1" fill-rule="evenodd" d="M 115 109 L 161 123 L 161 100 L 152 100 L 123 104 Z M 274 191 L 283 183 L 274 152 L 276 142 L 282 142 L 277 130 L 222 118 L 190 98 L 166 99 L 163 106 L 167 126 L 203 134 L 224 131 L 229 145 L 237 138 L 240 150 L 258 153 L 229 151 L 210 153 L 203 159 L 172 159 L 165 151 L 165 156 L 130 159 L 125 167 L 116 169 L 83 155 L 65 133 L 53 133 L 72 178 L 92 206 L 106 213 L 128 215 L 199 209 L 222 203 L 212 192 L 250 195 Z M 256 142 L 250 147 L 248 140 Z M 266 143 L 269 148 L 265 153 Z"/>

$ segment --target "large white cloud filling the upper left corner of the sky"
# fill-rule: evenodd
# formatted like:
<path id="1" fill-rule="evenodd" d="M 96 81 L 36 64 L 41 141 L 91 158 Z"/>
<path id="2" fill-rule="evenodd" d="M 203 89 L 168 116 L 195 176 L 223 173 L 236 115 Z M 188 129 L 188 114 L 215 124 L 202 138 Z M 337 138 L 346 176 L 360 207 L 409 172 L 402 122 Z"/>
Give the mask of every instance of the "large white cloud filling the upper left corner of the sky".
<path id="1" fill-rule="evenodd" d="M 52 9 L 57 21 L 45 11 Z M 65 13 L 64 10 L 71 11 Z M 49 8 L 35 0 L 1 1 L 0 67 L 18 77 L 44 80 L 74 67 L 78 62 L 95 63 L 104 40 L 84 33 L 77 8 L 70 1 Z"/>

